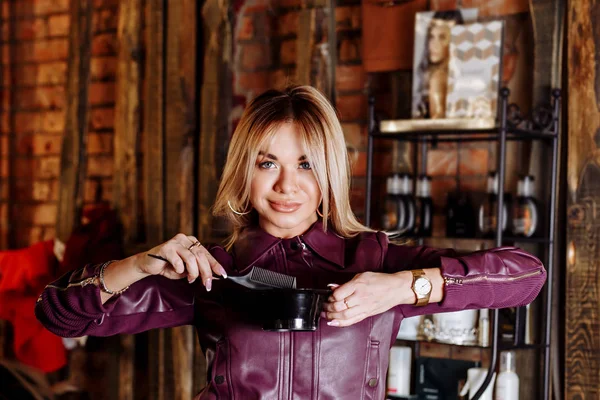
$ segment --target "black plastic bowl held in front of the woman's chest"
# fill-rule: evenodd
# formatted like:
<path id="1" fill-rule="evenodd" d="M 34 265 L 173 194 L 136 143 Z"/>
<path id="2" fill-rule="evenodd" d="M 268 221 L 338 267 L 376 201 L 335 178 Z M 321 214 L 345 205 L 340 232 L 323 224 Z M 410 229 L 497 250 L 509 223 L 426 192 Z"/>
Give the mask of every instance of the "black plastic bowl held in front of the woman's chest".
<path id="1" fill-rule="evenodd" d="M 273 289 L 254 292 L 263 330 L 316 331 L 323 303 L 332 291 L 325 289 Z M 258 311 L 257 310 L 257 311 Z"/>

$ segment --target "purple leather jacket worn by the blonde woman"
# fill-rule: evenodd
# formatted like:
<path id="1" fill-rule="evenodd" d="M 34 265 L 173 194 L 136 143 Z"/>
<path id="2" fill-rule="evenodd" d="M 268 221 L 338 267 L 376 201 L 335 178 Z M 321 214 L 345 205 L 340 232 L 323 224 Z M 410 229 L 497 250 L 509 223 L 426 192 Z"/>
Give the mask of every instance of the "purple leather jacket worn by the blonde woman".
<path id="1" fill-rule="evenodd" d="M 542 263 L 515 247 L 459 255 L 392 245 L 381 232 L 344 239 L 324 232 L 321 222 L 292 239 L 249 228 L 231 253 L 220 246 L 209 251 L 232 275 L 259 266 L 295 275 L 298 287 L 312 288 L 343 283 L 365 271 L 439 267 L 445 297 L 425 307 L 397 306 L 345 328 L 321 323 L 315 332 L 264 332 L 227 305 L 220 282 L 207 293 L 201 283 L 151 276 L 102 305 L 100 289 L 92 284 L 98 265 L 88 265 L 48 285 L 36 315 L 59 336 L 193 324 L 208 362 L 208 384 L 197 397 L 202 400 L 383 399 L 389 349 L 403 318 L 524 305 L 546 278 Z"/>

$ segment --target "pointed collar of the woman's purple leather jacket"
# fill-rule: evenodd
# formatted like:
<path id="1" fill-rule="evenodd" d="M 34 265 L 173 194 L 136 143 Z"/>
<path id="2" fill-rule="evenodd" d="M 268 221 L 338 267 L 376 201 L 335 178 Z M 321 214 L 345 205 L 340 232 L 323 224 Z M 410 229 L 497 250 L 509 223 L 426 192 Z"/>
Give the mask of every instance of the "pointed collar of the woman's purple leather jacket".
<path id="1" fill-rule="evenodd" d="M 345 240 L 332 230 L 325 232 L 323 223 L 319 219 L 302 235 L 291 239 L 277 238 L 253 225 L 245 228 L 233 245 L 233 258 L 236 269 L 243 270 L 252 266 L 261 259 L 269 250 L 282 241 L 297 240 L 300 238 L 312 251 L 321 258 L 344 268 Z"/>

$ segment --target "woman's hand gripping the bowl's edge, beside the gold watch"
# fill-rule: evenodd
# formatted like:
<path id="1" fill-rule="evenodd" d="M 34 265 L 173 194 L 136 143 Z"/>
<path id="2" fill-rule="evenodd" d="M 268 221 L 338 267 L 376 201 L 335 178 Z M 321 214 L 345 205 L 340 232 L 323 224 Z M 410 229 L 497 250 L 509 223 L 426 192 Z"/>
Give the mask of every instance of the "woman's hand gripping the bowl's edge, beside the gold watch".
<path id="1" fill-rule="evenodd" d="M 415 294 L 410 271 L 385 274 L 364 272 L 341 285 L 330 285 L 333 294 L 324 305 L 330 326 L 350 326 L 399 304 L 412 304 Z"/>

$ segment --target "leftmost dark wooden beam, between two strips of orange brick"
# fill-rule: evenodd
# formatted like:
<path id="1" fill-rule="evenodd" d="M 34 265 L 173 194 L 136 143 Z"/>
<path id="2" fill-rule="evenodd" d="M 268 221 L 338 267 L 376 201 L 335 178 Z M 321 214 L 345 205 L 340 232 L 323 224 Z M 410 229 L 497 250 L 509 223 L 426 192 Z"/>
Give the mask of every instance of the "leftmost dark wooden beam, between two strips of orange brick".
<path id="1" fill-rule="evenodd" d="M 64 242 L 80 224 L 86 166 L 92 42 L 92 1 L 71 0 L 67 61 L 66 121 L 63 136 L 56 236 Z"/>

